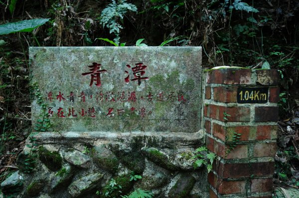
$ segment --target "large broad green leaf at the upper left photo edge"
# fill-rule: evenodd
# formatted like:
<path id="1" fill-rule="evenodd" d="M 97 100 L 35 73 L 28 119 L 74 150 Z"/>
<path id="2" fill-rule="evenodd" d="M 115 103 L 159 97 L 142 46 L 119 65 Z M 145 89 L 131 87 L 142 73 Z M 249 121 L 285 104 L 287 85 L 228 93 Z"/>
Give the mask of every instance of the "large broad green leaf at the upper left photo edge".
<path id="1" fill-rule="evenodd" d="M 0 25 L 0 35 L 15 32 L 31 32 L 35 28 L 45 24 L 50 18 L 37 18 L 31 20 L 23 20 L 15 23 L 6 23 Z"/>

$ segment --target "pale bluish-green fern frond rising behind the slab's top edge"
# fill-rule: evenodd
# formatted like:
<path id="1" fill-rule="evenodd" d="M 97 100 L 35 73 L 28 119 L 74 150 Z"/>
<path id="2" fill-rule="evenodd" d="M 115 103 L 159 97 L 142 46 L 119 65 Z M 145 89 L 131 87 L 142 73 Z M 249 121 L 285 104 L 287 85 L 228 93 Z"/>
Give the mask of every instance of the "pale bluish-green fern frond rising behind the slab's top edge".
<path id="1" fill-rule="evenodd" d="M 112 0 L 112 3 L 103 9 L 101 13 L 100 23 L 103 25 L 103 28 L 106 26 L 110 30 L 110 34 L 114 33 L 116 36 L 114 42 L 116 44 L 120 42 L 120 29 L 123 29 L 121 25 L 122 20 L 130 10 L 137 12 L 136 5 L 127 3 L 126 0 L 119 0 L 118 3 Z"/>

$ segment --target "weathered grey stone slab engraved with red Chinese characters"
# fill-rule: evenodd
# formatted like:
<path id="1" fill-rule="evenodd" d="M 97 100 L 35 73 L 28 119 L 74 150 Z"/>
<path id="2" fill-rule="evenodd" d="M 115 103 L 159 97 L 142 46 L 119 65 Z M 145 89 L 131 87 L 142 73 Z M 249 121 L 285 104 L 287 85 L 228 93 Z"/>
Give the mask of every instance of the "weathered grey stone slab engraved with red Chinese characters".
<path id="1" fill-rule="evenodd" d="M 201 47 L 30 47 L 29 59 L 54 131 L 200 130 Z M 35 99 L 33 125 L 40 112 Z"/>

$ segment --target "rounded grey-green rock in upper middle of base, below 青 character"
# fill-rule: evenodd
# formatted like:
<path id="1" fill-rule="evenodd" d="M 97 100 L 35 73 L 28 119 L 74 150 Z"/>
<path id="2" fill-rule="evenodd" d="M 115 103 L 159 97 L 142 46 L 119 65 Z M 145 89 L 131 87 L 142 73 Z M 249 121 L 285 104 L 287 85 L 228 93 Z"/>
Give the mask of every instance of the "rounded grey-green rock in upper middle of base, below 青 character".
<path id="1" fill-rule="evenodd" d="M 108 148 L 95 146 L 91 149 L 90 156 L 99 168 L 103 168 L 109 172 L 117 171 L 119 159 Z"/>

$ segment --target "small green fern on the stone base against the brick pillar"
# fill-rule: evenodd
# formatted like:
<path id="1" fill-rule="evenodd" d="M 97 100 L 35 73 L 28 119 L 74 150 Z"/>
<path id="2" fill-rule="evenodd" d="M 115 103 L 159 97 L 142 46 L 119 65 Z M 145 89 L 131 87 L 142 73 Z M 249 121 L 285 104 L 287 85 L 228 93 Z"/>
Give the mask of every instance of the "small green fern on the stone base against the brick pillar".
<path id="1" fill-rule="evenodd" d="M 197 168 L 202 165 L 206 165 L 209 173 L 212 170 L 212 164 L 215 158 L 215 153 L 209 152 L 205 146 L 201 146 L 195 150 L 195 155 L 192 157 L 192 159 L 196 159 L 196 161 L 193 164 L 193 167 Z"/>

